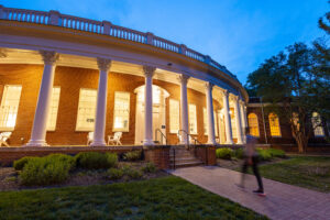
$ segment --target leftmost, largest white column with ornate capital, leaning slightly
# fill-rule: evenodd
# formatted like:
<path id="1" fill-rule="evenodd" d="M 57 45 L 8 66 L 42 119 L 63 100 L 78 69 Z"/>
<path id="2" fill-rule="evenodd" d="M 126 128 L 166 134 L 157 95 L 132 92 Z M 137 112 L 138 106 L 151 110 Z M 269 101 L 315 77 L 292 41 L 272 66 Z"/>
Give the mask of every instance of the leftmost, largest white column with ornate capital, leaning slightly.
<path id="1" fill-rule="evenodd" d="M 34 122 L 31 139 L 26 146 L 46 146 L 46 127 L 51 99 L 53 92 L 53 82 L 58 54 L 50 51 L 40 51 L 44 61 L 44 73 L 38 90 L 38 98 L 34 114 Z"/>

